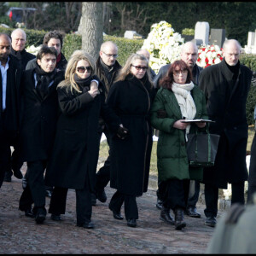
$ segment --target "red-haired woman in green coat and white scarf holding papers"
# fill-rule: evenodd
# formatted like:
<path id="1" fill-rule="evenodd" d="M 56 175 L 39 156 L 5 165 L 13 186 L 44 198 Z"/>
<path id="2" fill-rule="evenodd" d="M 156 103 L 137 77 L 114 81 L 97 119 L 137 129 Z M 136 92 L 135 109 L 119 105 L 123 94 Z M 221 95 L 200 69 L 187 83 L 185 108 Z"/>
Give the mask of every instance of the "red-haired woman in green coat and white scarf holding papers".
<path id="1" fill-rule="evenodd" d="M 174 61 L 160 81 L 151 110 L 151 124 L 160 131 L 157 144 L 157 167 L 160 182 L 166 183 L 166 195 L 160 219 L 174 224 L 176 230 L 186 226 L 183 212 L 189 195 L 189 179 L 201 180 L 202 168 L 189 166 L 187 134 L 204 129 L 206 123 L 183 123 L 183 119 L 207 119 L 206 100 L 192 82 L 192 74 L 184 61 Z M 158 116 L 166 112 L 165 118 Z M 170 210 L 175 213 L 175 221 Z"/>

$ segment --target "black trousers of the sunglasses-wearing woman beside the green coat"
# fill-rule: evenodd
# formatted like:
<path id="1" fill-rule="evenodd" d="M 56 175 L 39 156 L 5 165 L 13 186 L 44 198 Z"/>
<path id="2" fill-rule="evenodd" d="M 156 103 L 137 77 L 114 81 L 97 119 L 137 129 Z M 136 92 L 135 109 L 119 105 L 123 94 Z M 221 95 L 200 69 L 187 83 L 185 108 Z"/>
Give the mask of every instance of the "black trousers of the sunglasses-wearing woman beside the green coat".
<path id="1" fill-rule="evenodd" d="M 123 203 L 125 203 L 126 220 L 130 218 L 138 219 L 138 209 L 135 195 L 125 195 L 117 190 L 109 202 L 109 208 L 115 210 L 116 212 L 120 212 Z"/>

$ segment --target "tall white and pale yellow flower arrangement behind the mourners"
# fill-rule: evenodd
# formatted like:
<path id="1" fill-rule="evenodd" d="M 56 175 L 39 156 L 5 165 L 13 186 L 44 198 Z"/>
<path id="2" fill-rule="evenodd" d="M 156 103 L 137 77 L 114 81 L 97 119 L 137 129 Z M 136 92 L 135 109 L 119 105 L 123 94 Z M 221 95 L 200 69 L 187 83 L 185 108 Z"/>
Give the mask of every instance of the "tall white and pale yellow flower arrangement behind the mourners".
<path id="1" fill-rule="evenodd" d="M 158 73 L 160 67 L 180 58 L 180 49 L 183 43 L 184 39 L 174 31 L 171 24 L 160 21 L 151 26 L 148 38 L 144 40 L 142 48 L 148 49 L 149 65 L 155 73 Z"/>

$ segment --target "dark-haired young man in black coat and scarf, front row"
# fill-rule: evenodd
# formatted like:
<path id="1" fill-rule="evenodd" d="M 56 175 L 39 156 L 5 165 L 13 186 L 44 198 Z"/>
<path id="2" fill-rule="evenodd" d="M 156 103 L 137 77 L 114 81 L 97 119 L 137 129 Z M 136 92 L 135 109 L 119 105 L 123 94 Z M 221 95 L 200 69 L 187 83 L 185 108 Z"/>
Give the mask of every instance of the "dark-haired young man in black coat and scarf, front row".
<path id="1" fill-rule="evenodd" d="M 21 159 L 27 165 L 27 185 L 20 196 L 19 208 L 26 216 L 35 217 L 38 224 L 46 216 L 44 169 L 55 139 L 56 86 L 64 79 L 64 72 L 55 68 L 57 55 L 54 47 L 43 45 L 38 51 L 37 67 L 24 73 L 21 84 L 20 143 Z"/>

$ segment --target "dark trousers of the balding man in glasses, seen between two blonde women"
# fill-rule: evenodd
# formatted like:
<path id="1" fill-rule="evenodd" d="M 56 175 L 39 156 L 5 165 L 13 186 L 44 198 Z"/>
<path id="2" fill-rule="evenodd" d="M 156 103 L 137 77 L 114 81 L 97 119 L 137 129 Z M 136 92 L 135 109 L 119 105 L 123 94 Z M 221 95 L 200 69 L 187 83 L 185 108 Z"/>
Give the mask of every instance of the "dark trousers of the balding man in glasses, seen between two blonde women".
<path id="1" fill-rule="evenodd" d="M 111 154 L 111 147 L 110 147 L 110 134 L 107 127 L 103 130 L 105 136 L 107 137 L 107 142 L 109 146 L 108 150 L 108 159 L 105 161 L 104 166 L 100 168 L 100 170 L 96 173 L 96 190 L 104 189 L 108 182 L 110 181 L 110 154 Z M 100 135 L 100 139 L 102 134 Z"/>

